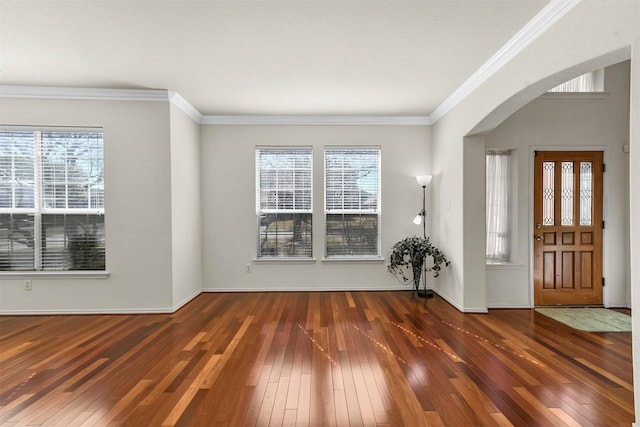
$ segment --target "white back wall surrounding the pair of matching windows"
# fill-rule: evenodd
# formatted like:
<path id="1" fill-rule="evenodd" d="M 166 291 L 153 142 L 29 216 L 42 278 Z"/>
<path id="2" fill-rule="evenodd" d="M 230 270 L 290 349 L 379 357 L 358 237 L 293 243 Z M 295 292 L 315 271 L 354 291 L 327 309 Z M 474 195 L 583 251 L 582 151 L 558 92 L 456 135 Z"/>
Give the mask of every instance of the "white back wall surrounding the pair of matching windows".
<path id="1" fill-rule="evenodd" d="M 313 254 L 309 262 L 256 258 L 255 148 L 313 147 Z M 384 260 L 323 260 L 325 145 L 382 148 L 381 229 Z M 421 235 L 412 223 L 422 208 L 415 176 L 431 173 L 426 126 L 203 126 L 202 219 L 205 290 L 410 289 L 387 272 L 391 246 Z M 430 190 L 427 189 L 427 198 Z M 427 211 L 431 204 L 428 200 Z M 251 272 L 247 272 L 247 265 Z"/>

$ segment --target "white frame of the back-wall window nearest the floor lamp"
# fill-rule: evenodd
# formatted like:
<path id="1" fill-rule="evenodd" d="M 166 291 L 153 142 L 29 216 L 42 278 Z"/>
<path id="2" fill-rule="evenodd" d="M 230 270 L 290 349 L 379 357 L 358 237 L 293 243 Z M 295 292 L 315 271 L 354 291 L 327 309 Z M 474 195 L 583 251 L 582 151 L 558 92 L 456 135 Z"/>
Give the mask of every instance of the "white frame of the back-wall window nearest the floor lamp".
<path id="1" fill-rule="evenodd" d="M 373 209 L 342 209 L 340 208 L 331 208 L 329 207 L 328 197 L 327 197 L 327 177 L 328 177 L 328 169 L 327 169 L 327 154 L 330 152 L 348 152 L 348 151 L 371 151 L 376 153 L 376 206 Z M 356 169 L 358 170 L 358 169 Z M 380 146 L 371 146 L 371 145 L 363 145 L 363 146 L 348 146 L 348 145 L 327 145 L 323 150 L 323 192 L 324 192 L 324 206 L 323 206 L 323 214 L 324 214 L 324 260 L 325 261 L 367 261 L 374 260 L 378 261 L 382 258 L 382 197 L 381 197 L 381 188 L 382 188 L 382 148 Z M 329 254 L 328 249 L 328 225 L 329 215 L 375 215 L 376 216 L 376 253 L 375 254 Z"/>

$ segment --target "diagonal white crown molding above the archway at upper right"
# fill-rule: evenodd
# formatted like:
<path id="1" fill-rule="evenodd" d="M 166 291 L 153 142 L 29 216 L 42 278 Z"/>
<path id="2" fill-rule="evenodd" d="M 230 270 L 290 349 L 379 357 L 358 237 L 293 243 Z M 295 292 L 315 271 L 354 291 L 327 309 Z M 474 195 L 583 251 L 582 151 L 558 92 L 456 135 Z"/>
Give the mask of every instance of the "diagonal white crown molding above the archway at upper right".
<path id="1" fill-rule="evenodd" d="M 430 115 L 431 123 L 442 117 L 486 82 L 500 68 L 522 52 L 529 44 L 542 35 L 549 27 L 566 15 L 582 0 L 551 0 L 536 16 L 520 29 L 487 62 L 478 68 L 462 85 L 444 100 Z"/>

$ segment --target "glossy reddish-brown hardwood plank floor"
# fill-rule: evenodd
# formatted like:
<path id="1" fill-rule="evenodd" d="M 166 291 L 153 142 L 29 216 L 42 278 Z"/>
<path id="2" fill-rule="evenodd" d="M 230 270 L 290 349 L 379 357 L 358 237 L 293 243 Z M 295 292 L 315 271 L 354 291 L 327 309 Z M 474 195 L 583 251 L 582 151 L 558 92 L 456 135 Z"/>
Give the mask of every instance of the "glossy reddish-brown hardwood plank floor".
<path id="1" fill-rule="evenodd" d="M 631 334 L 410 292 L 0 317 L 0 425 L 628 426 Z"/>

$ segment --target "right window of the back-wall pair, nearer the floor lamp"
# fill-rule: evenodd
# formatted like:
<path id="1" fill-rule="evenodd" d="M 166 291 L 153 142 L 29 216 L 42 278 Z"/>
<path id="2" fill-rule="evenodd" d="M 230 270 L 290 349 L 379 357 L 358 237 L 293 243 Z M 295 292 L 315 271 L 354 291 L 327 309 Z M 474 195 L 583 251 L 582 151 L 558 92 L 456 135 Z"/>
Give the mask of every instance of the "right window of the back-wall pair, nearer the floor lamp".
<path id="1" fill-rule="evenodd" d="M 327 148 L 324 165 L 326 256 L 379 256 L 380 149 Z"/>

